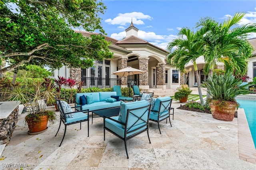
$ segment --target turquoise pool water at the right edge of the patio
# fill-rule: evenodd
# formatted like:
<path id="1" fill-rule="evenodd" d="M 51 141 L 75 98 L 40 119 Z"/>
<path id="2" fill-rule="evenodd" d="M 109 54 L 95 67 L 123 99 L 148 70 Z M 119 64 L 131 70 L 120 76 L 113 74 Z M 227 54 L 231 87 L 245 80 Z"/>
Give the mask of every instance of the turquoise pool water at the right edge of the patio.
<path id="1" fill-rule="evenodd" d="M 256 148 L 256 100 L 236 99 L 239 107 L 244 109 L 248 125 Z"/>

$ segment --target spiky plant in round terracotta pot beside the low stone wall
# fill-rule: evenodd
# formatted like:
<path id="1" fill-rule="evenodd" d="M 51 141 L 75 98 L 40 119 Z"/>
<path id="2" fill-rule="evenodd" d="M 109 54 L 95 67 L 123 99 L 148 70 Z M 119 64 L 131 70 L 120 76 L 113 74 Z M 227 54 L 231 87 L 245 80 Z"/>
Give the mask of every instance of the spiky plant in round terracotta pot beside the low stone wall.
<path id="1" fill-rule="evenodd" d="M 16 83 L 8 92 L 12 101 L 22 101 L 27 108 L 28 115 L 25 121 L 28 124 L 30 134 L 38 134 L 47 129 L 48 121 L 54 123 L 56 114 L 54 111 L 46 110 L 48 103 L 54 102 L 56 90 L 51 79 L 33 79 L 25 81 L 24 84 Z"/>

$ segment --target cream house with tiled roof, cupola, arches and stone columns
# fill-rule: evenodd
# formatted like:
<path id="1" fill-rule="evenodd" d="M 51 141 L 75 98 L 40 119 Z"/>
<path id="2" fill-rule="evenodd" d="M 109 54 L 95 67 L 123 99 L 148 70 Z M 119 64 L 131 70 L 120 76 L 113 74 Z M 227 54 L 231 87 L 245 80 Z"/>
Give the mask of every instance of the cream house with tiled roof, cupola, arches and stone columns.
<path id="1" fill-rule="evenodd" d="M 111 42 L 109 49 L 113 52 L 112 59 L 95 61 L 94 67 L 88 69 L 62 67 L 54 71 L 55 77 L 63 76 L 75 79 L 76 82 L 84 81 L 85 88 L 88 87 L 112 87 L 119 85 L 127 87 L 130 84 L 139 85 L 140 89 L 149 88 L 174 88 L 180 86 L 180 73 L 171 65 L 166 63 L 168 51 L 157 47 L 146 40 L 138 38 L 138 29 L 131 22 L 125 30 L 126 38 L 115 40 L 105 36 L 105 40 Z M 90 37 L 91 34 L 82 30 L 75 30 L 83 36 Z M 134 67 L 146 71 L 144 74 L 130 75 L 129 77 L 118 77 L 113 75 L 114 71 Z M 127 80 L 128 79 L 128 80 Z"/>

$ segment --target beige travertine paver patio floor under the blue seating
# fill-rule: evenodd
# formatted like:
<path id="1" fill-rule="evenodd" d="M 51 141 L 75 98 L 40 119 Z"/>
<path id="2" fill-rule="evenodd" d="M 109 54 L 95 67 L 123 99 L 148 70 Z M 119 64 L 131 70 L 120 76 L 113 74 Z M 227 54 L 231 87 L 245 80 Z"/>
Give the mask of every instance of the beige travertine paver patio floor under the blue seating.
<path id="1" fill-rule="evenodd" d="M 173 101 L 172 107 L 180 103 Z M 58 147 L 64 133 L 64 125 L 55 137 L 59 121 L 48 125 L 41 134 L 29 135 L 24 125 L 25 114 L 20 115 L 10 143 L 1 155 L 1 169 L 204 169 L 204 170 L 255 170 L 256 165 L 239 159 L 238 123 L 213 119 L 211 115 L 174 110 L 174 120 L 161 122 L 161 131 L 154 122 L 149 124 L 151 144 L 147 133 L 128 140 L 129 159 L 126 158 L 124 142 L 106 132 L 103 138 L 103 119 L 67 127 L 65 139 Z M 224 126 L 230 130 L 222 130 Z"/>

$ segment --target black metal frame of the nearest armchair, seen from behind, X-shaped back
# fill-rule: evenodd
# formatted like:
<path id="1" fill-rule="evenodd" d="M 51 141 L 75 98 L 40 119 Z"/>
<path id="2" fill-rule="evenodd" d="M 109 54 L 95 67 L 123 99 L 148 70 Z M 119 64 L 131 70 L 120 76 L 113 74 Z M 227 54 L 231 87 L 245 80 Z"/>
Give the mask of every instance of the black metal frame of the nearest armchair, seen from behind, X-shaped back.
<path id="1" fill-rule="evenodd" d="M 142 108 L 146 108 L 146 107 L 148 107 L 148 109 L 147 109 L 140 117 L 138 117 L 138 116 L 136 115 L 136 113 L 133 113 L 133 112 L 132 112 L 132 111 L 134 111 L 134 110 L 138 110 L 138 109 L 142 109 Z M 121 122 L 119 122 L 119 121 L 116 121 L 116 120 L 112 119 L 111 117 L 104 117 L 104 140 L 105 140 L 105 130 L 108 130 L 110 133 L 112 133 L 112 134 L 114 134 L 115 136 L 117 136 L 118 138 L 124 140 L 124 146 L 125 146 L 125 151 L 126 151 L 127 159 L 129 159 L 128 152 L 127 152 L 126 141 L 129 140 L 129 139 L 131 139 L 131 138 L 133 138 L 133 137 L 135 137 L 135 136 L 137 136 L 137 135 L 139 135 L 139 134 L 141 134 L 142 132 L 147 131 L 147 133 L 148 133 L 148 121 L 149 121 L 150 108 L 151 108 L 151 105 L 144 106 L 144 107 L 140 107 L 140 108 L 136 108 L 136 109 L 127 109 L 127 116 L 126 116 L 126 123 L 125 123 L 125 124 L 124 124 L 124 123 L 121 123 Z M 146 124 L 145 124 L 144 126 L 142 126 L 142 127 L 139 127 L 139 128 L 136 128 L 136 129 L 134 129 L 134 130 L 129 131 L 130 128 L 127 128 L 127 124 L 128 124 L 128 118 L 129 118 L 129 115 L 130 115 L 130 114 L 132 114 L 132 115 L 134 115 L 135 117 L 138 118 L 138 120 L 137 120 L 130 128 L 132 128 L 139 120 L 144 121 Z M 143 120 L 143 119 L 142 119 L 142 117 L 143 117 L 145 114 L 148 114 L 148 119 L 147 119 L 147 120 Z M 110 119 L 110 120 L 112 120 L 112 121 L 115 121 L 115 122 L 117 122 L 117 123 L 120 123 L 121 125 L 124 125 L 124 126 L 125 126 L 124 138 L 121 137 L 121 136 L 119 136 L 118 134 L 116 134 L 115 132 L 113 132 L 112 130 L 110 130 L 109 128 L 105 127 L 105 119 L 106 119 L 106 118 L 107 118 L 107 119 Z M 129 136 L 129 137 L 126 137 L 127 134 L 132 133 L 132 132 L 134 132 L 134 131 L 136 131 L 136 130 L 139 130 L 140 128 L 143 128 L 143 127 L 145 127 L 145 126 L 146 126 L 145 129 L 143 129 L 143 130 L 141 130 L 141 131 L 139 131 L 139 132 L 136 132 L 135 134 L 132 134 L 132 135 Z M 148 140 L 149 140 L 149 143 L 151 143 L 150 138 L 149 138 L 149 133 L 148 133 Z"/>

